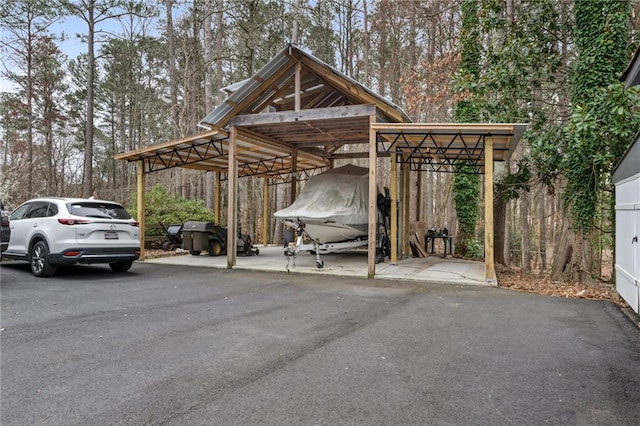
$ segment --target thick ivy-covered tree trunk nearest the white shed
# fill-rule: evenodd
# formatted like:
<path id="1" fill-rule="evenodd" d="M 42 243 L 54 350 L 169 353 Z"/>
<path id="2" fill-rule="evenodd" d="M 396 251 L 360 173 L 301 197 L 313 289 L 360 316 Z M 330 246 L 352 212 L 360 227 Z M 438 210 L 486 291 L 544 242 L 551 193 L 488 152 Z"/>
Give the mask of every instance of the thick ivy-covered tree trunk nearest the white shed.
<path id="1" fill-rule="evenodd" d="M 620 88 L 610 87 L 619 85 L 617 80 L 629 58 L 630 2 L 575 1 L 574 16 L 573 112 L 561 163 L 566 178 L 563 200 L 569 215 L 565 235 L 558 240 L 552 278 L 590 281 L 599 275 L 592 247 L 592 232 L 601 217 L 598 205 L 607 196 L 612 165 L 637 129 L 633 111 L 638 104 L 633 105 Z"/>

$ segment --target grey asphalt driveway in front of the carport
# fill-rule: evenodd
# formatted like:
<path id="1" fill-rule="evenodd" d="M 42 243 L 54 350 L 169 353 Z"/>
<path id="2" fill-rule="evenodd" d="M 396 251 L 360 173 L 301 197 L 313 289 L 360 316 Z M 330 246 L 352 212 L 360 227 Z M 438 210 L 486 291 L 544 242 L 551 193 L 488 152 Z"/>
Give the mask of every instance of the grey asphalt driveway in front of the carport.
<path id="1" fill-rule="evenodd" d="M 136 264 L 3 262 L 2 425 L 636 425 L 609 302 Z"/>

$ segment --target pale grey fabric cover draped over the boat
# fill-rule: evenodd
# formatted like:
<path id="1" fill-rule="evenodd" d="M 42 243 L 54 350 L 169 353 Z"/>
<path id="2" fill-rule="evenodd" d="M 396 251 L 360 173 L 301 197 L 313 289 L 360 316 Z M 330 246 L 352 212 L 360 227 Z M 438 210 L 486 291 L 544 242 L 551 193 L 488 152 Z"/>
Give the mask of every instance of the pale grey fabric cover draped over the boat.
<path id="1" fill-rule="evenodd" d="M 299 220 L 366 230 L 368 201 L 369 169 L 349 164 L 309 178 L 293 204 L 274 216 L 289 226 Z"/>

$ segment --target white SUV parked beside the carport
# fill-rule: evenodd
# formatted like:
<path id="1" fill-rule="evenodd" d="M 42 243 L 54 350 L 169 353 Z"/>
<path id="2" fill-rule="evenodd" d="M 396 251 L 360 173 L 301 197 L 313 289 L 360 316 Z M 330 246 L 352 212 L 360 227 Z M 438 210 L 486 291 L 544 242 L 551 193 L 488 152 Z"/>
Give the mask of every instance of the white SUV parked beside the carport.
<path id="1" fill-rule="evenodd" d="M 2 257 L 28 261 L 37 277 L 74 263 L 108 263 L 123 272 L 140 257 L 138 222 L 112 201 L 36 198 L 9 219 L 11 238 Z"/>

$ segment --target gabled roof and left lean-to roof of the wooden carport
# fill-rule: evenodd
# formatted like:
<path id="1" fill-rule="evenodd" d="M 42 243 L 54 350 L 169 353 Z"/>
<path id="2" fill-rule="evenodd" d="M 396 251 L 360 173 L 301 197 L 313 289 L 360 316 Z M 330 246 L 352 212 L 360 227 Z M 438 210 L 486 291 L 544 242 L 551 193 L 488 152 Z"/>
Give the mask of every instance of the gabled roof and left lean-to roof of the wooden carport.
<path id="1" fill-rule="evenodd" d="M 295 111 L 298 72 L 302 105 Z M 368 143 L 372 115 L 410 121 L 397 105 L 291 45 L 225 91 L 231 94 L 200 122 L 211 130 L 115 158 L 142 160 L 147 173 L 172 167 L 225 172 L 234 120 L 240 176 L 277 176 L 291 171 L 294 158 L 297 170 L 323 168 L 345 145 Z"/>

